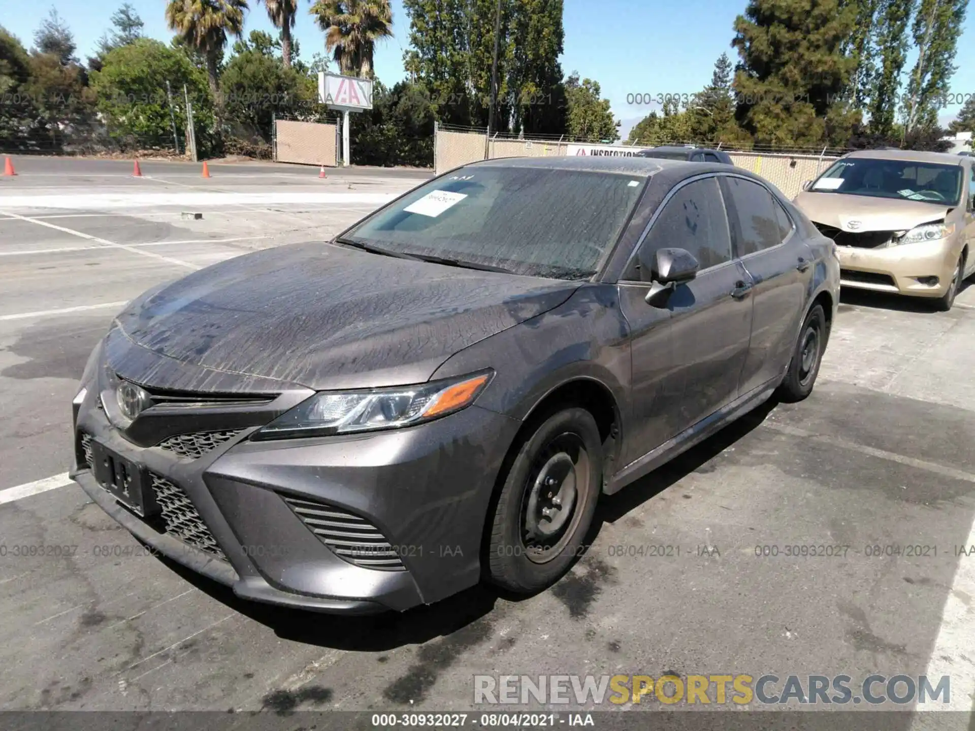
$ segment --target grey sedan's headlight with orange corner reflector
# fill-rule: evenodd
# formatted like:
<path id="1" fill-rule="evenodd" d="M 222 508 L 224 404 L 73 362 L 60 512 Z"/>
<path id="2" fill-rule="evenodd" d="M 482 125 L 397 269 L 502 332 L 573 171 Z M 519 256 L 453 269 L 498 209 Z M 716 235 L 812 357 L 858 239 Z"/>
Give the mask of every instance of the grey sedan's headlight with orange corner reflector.
<path id="1" fill-rule="evenodd" d="M 253 440 L 323 437 L 397 429 L 447 416 L 474 403 L 493 371 L 416 386 L 322 391 L 252 435 Z"/>

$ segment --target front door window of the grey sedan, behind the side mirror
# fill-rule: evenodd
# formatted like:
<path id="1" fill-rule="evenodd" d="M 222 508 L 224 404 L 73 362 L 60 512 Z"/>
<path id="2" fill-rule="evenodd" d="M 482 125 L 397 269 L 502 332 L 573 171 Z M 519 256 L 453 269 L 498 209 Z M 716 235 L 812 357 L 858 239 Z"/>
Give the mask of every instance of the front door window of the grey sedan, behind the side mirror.
<path id="1" fill-rule="evenodd" d="M 684 185 L 667 202 L 643 239 L 641 249 L 684 249 L 697 258 L 701 269 L 731 260 L 731 239 L 718 180 L 706 177 Z M 623 277 L 639 280 L 636 262 Z"/>

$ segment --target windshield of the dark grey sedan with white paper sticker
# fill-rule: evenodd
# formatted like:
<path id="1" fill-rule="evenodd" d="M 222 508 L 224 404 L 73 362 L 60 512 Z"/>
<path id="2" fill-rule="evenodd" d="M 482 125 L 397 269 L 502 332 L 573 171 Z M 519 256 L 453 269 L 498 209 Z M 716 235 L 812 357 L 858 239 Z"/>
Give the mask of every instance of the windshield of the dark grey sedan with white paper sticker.
<path id="1" fill-rule="evenodd" d="M 471 167 L 439 177 L 339 239 L 372 250 L 553 279 L 588 279 L 645 177 Z"/>

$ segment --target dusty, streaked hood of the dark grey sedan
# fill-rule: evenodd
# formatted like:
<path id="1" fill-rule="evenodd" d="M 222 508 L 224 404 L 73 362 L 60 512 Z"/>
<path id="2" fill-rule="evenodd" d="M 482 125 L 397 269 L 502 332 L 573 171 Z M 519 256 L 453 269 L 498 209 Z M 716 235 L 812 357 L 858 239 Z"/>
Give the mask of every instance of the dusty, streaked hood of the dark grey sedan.
<path id="1" fill-rule="evenodd" d="M 144 364 L 146 350 L 175 359 L 178 368 L 138 366 L 160 388 L 192 385 L 186 366 L 198 368 L 202 388 L 215 373 L 315 389 L 402 385 L 427 380 L 452 354 L 558 306 L 578 286 L 293 245 L 229 259 L 135 300 L 116 323 L 141 355 L 120 352 L 120 338 L 109 351 L 120 364 Z M 178 384 L 159 382 L 177 371 Z"/>

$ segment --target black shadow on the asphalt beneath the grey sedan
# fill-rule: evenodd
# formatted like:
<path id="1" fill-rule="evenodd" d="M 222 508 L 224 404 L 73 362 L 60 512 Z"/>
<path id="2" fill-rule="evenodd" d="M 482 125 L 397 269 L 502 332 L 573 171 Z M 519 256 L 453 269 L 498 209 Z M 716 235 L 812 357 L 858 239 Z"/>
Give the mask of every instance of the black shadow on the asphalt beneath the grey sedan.
<path id="1" fill-rule="evenodd" d="M 756 429 L 777 404 L 774 398 L 766 401 L 641 480 L 615 495 L 604 495 L 584 545 L 593 545 L 604 523 L 613 523 L 625 517 Z M 580 559 L 584 557 L 585 553 L 582 553 Z M 434 604 L 417 606 L 402 613 L 390 611 L 361 617 L 331 615 L 242 599 L 228 587 L 174 560 L 162 556 L 157 558 L 201 592 L 270 628 L 283 639 L 357 652 L 384 652 L 452 635 L 486 617 L 499 599 L 518 602 L 530 598 L 479 585 Z"/>

